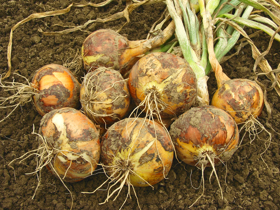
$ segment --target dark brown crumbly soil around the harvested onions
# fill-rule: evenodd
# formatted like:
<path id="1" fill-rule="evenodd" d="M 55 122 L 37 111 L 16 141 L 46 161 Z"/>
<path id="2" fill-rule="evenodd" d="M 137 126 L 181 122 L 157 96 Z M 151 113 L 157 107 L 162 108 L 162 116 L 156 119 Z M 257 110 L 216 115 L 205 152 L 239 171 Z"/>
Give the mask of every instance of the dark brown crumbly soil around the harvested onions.
<path id="1" fill-rule="evenodd" d="M 71 2 L 68 0 L 0 0 L 1 74 L 7 72 L 7 45 L 12 26 L 32 13 L 63 9 Z M 46 64 L 63 64 L 63 61 L 69 56 L 76 54 L 77 50 L 81 48 L 83 40 L 88 35 L 86 32 L 76 31 L 63 36 L 44 36 L 38 31 L 39 27 L 43 31 L 63 30 L 60 26 L 52 25 L 82 25 L 87 20 L 104 18 L 108 14 L 122 11 L 124 5 L 125 1 L 114 1 L 108 6 L 101 8 L 74 7 L 65 15 L 45 17 L 23 24 L 14 32 L 12 73 L 17 72 L 30 79 L 37 69 Z M 131 22 L 120 33 L 126 35 L 129 40 L 145 39 L 150 27 L 160 17 L 164 9 L 164 5 L 158 3 L 139 7 L 136 11 L 132 12 L 130 15 Z M 98 23 L 89 26 L 87 30 L 94 31 L 101 28 L 117 30 L 124 21 L 125 19 L 106 24 Z M 248 29 L 247 32 L 251 33 Z M 263 52 L 267 49 L 269 37 L 260 34 L 253 41 L 259 50 Z M 274 41 L 270 53 L 265 57 L 273 69 L 276 69 L 280 62 L 279 47 L 279 43 Z M 232 53 L 234 52 L 232 50 Z M 241 50 L 239 55 L 222 64 L 225 73 L 232 79 L 252 77 L 253 66 L 254 59 L 252 58 L 249 44 Z M 257 71 L 260 72 L 261 70 L 258 68 Z M 15 76 L 15 79 L 17 82 L 25 82 L 18 76 Z M 259 76 L 258 80 L 266 87 L 272 84 L 263 75 Z M 6 81 L 12 81 L 12 76 Z M 213 73 L 210 74 L 208 86 L 211 97 L 217 89 Z M 0 97 L 7 97 L 10 94 L 10 92 L 0 89 Z M 272 116 L 269 123 L 280 133 L 279 96 L 272 90 L 268 92 L 267 97 L 272 108 Z M 3 119 L 11 110 L 10 108 L 0 109 L 0 119 Z M 264 124 L 267 116 L 267 111 L 264 109 L 263 114 L 259 118 L 260 122 Z M 35 175 L 25 175 L 25 173 L 34 171 L 36 167 L 34 156 L 25 161 L 26 165 L 13 165 L 15 167 L 15 176 L 14 171 L 7 166 L 13 159 L 38 147 L 35 135 L 31 134 L 31 132 L 33 124 L 35 131 L 38 132 L 40 119 L 41 116 L 35 111 L 32 103 L 29 103 L 18 108 L 0 125 L 0 210 L 70 209 L 70 194 L 63 184 L 46 168 L 42 170 L 41 185 L 34 199 L 31 199 L 38 181 Z M 268 142 L 265 141 L 268 139 L 266 133 L 260 133 L 259 137 L 262 140 L 255 139 L 252 144 L 248 143 L 250 139 L 246 135 L 242 142 L 243 146 L 227 162 L 227 167 L 224 165 L 216 166 L 224 192 L 223 200 L 221 199 L 217 181 L 213 176 L 211 183 L 209 182 L 208 177 L 211 174 L 211 168 L 205 170 L 206 190 L 204 196 L 192 209 L 280 209 L 280 174 L 278 173 L 280 168 L 280 140 L 277 133 L 271 129 L 268 129 L 268 131 L 272 133 L 272 142 L 266 152 L 264 152 L 265 147 L 268 145 Z M 261 153 L 263 153 L 262 156 Z M 151 187 L 135 188 L 141 209 L 188 209 L 202 193 L 202 187 L 195 189 L 199 186 L 201 171 L 192 166 L 184 166 L 185 169 L 177 161 L 174 161 L 168 174 L 168 179 L 154 185 L 154 189 Z M 107 193 L 105 190 L 99 190 L 94 194 L 81 194 L 82 191 L 91 192 L 95 190 L 105 180 L 105 175 L 98 173 L 78 183 L 66 183 L 73 194 L 73 209 L 119 209 L 126 198 L 127 187 L 124 187 L 115 201 L 110 199 L 108 203 L 103 205 L 98 203 L 105 200 Z M 131 198 L 128 198 L 122 209 L 139 209 L 133 192 L 131 192 L 131 195 Z"/>

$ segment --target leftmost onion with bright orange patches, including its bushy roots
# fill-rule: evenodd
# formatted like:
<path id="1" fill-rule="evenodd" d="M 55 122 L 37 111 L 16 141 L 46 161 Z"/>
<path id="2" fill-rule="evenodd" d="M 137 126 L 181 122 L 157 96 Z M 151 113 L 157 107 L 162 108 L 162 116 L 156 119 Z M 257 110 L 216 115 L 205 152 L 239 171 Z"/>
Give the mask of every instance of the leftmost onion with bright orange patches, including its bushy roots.
<path id="1" fill-rule="evenodd" d="M 32 101 L 41 116 L 54 109 L 62 107 L 77 109 L 80 106 L 81 84 L 74 74 L 62 65 L 46 65 L 35 72 L 31 83 L 27 79 L 26 81 L 27 85 L 18 82 L 5 82 L 10 84 L 9 86 L 1 82 L 1 87 L 5 88 L 6 91 L 15 91 L 15 94 L 8 98 L 1 98 L 0 105 L 6 101 L 10 101 L 11 104 L 16 103 L 7 106 L 15 107 L 13 112 L 19 105 Z"/>

